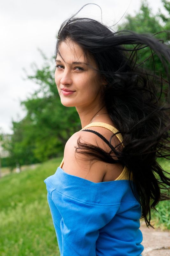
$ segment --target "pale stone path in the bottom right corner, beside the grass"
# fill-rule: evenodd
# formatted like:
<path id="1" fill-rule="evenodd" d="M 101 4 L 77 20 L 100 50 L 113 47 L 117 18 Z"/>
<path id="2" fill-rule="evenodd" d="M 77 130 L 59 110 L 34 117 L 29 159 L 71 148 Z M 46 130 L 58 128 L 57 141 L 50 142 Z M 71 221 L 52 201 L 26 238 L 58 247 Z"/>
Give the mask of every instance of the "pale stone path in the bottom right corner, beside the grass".
<path id="1" fill-rule="evenodd" d="M 142 256 L 170 256 L 170 232 L 141 225 L 144 252 Z"/>

